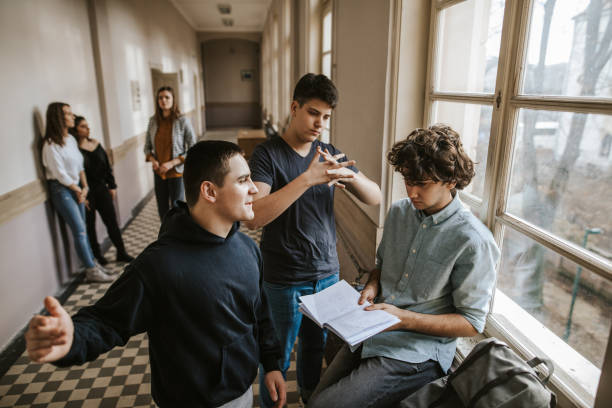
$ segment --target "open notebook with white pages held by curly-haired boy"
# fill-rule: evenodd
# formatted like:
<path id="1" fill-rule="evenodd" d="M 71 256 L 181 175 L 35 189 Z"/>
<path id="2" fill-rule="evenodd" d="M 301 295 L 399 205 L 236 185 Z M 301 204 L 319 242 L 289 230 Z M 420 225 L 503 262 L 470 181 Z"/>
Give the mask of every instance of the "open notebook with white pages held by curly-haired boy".
<path id="1" fill-rule="evenodd" d="M 359 296 L 359 292 L 341 280 L 314 295 L 300 296 L 300 312 L 351 346 L 399 323 L 397 317 L 385 311 L 363 310 L 370 303 L 357 304 Z"/>

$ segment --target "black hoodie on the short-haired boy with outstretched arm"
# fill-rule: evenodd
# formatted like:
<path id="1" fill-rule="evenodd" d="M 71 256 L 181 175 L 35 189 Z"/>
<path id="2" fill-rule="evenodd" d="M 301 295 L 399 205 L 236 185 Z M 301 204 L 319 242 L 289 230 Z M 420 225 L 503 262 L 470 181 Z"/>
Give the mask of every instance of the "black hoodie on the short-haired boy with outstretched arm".
<path id="1" fill-rule="evenodd" d="M 159 239 L 73 317 L 72 348 L 56 364 L 94 360 L 146 331 L 160 407 L 222 405 L 250 387 L 259 362 L 266 372 L 278 370 L 261 283 L 261 254 L 238 223 L 221 238 L 181 203 L 164 218 Z"/>

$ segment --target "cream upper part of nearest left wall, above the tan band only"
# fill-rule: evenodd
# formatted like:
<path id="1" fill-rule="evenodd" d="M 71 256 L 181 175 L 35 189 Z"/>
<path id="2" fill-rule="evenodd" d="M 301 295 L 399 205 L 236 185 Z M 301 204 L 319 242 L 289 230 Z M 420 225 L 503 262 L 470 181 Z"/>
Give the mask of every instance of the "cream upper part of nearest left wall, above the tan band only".
<path id="1" fill-rule="evenodd" d="M 71 104 L 102 132 L 86 2 L 2 1 L 0 38 L 4 194 L 39 177 L 35 116 L 44 120 L 50 102 Z"/>

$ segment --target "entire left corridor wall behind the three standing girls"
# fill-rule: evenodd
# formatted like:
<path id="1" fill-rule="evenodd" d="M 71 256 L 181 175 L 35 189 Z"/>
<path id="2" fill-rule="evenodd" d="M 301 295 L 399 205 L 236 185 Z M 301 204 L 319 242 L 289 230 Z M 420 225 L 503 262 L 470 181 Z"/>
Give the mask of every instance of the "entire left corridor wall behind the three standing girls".
<path id="1" fill-rule="evenodd" d="M 72 243 L 60 237 L 60 224 L 37 181 L 47 104 L 72 105 L 118 159 L 123 225 L 153 187 L 143 138 L 137 137 L 153 114 L 151 68 L 183 70 L 180 94 L 187 112 L 199 108 L 194 82 L 202 69 L 195 30 L 167 0 L 2 1 L 0 37 L 6 102 L 0 111 L 0 206 L 20 207 L 0 223 L 1 349 L 40 310 L 43 297 L 61 292 L 77 269 Z M 136 112 L 130 81 L 140 86 Z M 103 239 L 105 230 L 100 232 Z"/>

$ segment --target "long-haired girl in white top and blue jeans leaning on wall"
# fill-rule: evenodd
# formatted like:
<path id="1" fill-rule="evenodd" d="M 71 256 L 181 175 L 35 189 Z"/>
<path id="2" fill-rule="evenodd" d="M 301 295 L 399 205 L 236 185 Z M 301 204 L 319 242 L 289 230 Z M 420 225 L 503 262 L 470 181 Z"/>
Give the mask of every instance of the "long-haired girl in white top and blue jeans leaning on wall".
<path id="1" fill-rule="evenodd" d="M 113 280 L 110 272 L 95 261 L 87 239 L 85 200 L 89 187 L 83 169 L 83 156 L 76 140 L 68 134 L 68 129 L 73 126 L 74 115 L 70 105 L 62 102 L 49 104 L 42 147 L 49 196 L 55 210 L 72 232 L 87 280 L 109 282 Z"/>

